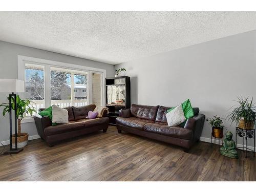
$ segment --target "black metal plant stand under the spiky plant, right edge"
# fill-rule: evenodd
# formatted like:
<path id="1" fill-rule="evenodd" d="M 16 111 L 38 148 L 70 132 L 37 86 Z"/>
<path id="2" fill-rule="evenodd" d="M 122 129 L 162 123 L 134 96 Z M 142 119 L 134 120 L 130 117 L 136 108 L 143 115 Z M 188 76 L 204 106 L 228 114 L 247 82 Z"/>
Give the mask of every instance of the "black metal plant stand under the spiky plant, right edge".
<path id="1" fill-rule="evenodd" d="M 243 146 L 237 147 L 237 136 L 243 137 Z M 253 138 L 253 150 L 247 147 L 247 139 Z M 253 157 L 255 157 L 255 129 L 253 130 L 245 130 L 240 127 L 236 127 L 236 148 L 243 148 L 243 152 L 245 152 L 245 158 L 247 158 L 247 153 L 252 152 Z"/>

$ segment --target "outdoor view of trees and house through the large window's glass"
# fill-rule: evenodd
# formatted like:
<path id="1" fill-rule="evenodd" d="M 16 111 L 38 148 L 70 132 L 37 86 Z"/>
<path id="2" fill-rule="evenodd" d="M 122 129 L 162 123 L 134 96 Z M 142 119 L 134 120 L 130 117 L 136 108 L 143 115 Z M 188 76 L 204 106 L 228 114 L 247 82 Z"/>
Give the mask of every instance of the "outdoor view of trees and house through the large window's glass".
<path id="1" fill-rule="evenodd" d="M 43 64 L 26 63 L 25 66 L 25 96 L 35 103 L 32 105 L 37 110 L 53 104 L 61 108 L 89 104 L 89 72 L 58 67 L 46 68 Z M 49 78 L 47 81 L 46 77 Z M 101 74 L 92 73 L 91 102 L 96 105 L 101 105 L 101 78 Z"/>

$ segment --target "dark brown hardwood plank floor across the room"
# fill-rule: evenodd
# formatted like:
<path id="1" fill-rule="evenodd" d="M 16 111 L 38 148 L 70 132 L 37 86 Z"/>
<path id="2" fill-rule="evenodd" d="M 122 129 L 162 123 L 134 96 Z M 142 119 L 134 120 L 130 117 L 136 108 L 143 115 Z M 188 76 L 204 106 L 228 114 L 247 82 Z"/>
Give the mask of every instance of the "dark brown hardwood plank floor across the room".
<path id="1" fill-rule="evenodd" d="M 29 141 L 17 155 L 0 156 L 1 181 L 256 181 L 256 160 L 220 155 L 199 142 L 189 153 L 174 145 L 108 132 L 93 133 L 53 147 Z"/>

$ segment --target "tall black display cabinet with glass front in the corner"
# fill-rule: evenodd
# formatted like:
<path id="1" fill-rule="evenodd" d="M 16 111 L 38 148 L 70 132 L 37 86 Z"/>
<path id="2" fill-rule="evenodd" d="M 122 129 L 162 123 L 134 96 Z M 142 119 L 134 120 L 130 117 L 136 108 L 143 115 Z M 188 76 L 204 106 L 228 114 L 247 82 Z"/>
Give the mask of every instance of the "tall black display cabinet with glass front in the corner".
<path id="1" fill-rule="evenodd" d="M 105 78 L 106 107 L 109 108 L 110 125 L 116 125 L 116 118 L 120 109 L 131 107 L 130 77 Z"/>

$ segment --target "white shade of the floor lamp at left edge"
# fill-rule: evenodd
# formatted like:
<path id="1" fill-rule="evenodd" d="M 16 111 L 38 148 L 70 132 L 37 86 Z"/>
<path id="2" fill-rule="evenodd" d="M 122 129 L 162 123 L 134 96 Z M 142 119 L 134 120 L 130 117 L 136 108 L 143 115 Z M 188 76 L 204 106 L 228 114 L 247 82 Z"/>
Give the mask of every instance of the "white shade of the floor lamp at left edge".
<path id="1" fill-rule="evenodd" d="M 22 93 L 25 92 L 24 81 L 19 79 L 0 79 L 0 92 Z"/>

